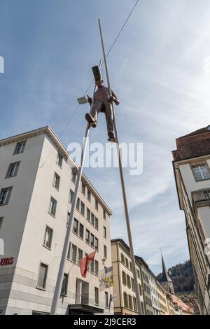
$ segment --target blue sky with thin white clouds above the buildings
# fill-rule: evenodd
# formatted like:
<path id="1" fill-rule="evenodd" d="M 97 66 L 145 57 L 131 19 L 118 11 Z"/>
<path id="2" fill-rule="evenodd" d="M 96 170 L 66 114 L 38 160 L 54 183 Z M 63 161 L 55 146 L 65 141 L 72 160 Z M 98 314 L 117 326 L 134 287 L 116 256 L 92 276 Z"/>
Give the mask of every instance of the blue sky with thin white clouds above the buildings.
<path id="1" fill-rule="evenodd" d="M 81 142 L 87 106 L 62 131 L 102 57 L 97 18 L 108 49 L 134 3 L 0 0 L 1 139 L 50 125 L 64 145 Z M 168 267 L 189 257 L 171 151 L 177 137 L 209 124 L 209 14 L 209 0 L 140 0 L 108 58 L 120 141 L 144 143 L 144 172 L 125 170 L 125 182 L 134 249 L 155 274 L 160 246 Z M 90 142 L 106 142 L 99 121 Z M 113 210 L 111 236 L 127 241 L 118 170 L 85 174 Z"/>

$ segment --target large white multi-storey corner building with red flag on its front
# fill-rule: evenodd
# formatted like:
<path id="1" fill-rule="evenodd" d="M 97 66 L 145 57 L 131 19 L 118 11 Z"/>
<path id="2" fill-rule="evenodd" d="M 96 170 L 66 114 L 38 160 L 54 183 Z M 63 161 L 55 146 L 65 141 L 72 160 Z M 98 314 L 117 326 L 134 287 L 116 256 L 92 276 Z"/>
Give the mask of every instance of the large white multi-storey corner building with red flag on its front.
<path id="1" fill-rule="evenodd" d="M 68 159 L 50 127 L 0 141 L 0 314 L 50 312 L 78 170 Z M 98 277 L 103 258 L 111 266 L 110 216 L 83 175 L 58 314 L 113 314 Z M 83 278 L 78 261 L 94 250 Z"/>

